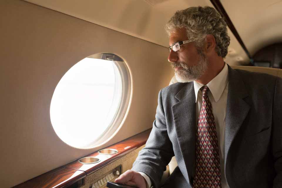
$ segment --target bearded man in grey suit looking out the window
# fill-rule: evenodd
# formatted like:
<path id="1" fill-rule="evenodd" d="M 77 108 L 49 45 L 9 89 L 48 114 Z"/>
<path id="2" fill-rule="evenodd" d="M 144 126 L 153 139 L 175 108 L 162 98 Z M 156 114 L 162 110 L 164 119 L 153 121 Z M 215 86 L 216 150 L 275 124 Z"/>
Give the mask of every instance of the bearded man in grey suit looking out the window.
<path id="1" fill-rule="evenodd" d="M 234 70 L 230 38 L 212 7 L 177 11 L 168 61 L 179 83 L 159 93 L 156 120 L 132 170 L 117 183 L 159 187 L 282 187 L 282 79 Z"/>

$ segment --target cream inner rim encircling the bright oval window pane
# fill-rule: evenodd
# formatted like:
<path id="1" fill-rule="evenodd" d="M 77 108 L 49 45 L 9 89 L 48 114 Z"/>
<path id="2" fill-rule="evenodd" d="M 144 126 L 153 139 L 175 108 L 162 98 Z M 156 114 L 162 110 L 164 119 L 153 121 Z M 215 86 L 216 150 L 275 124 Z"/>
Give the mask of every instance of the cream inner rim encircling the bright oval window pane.
<path id="1" fill-rule="evenodd" d="M 110 59 L 110 58 L 105 59 L 105 57 L 108 56 L 108 55 L 113 56 L 114 58 L 113 59 Z M 102 59 L 102 60 L 106 60 L 106 61 L 112 61 L 115 80 L 119 79 L 118 82 L 115 81 L 115 89 L 114 90 L 116 90 L 118 88 L 118 85 L 120 83 L 121 83 L 121 89 L 119 89 L 120 91 L 118 91 L 118 93 L 119 93 L 118 97 L 119 98 L 117 99 L 118 101 L 115 101 L 115 102 L 117 102 L 114 105 L 115 107 L 117 106 L 117 108 L 115 108 L 115 109 L 112 108 L 113 102 L 115 100 L 114 99 L 115 95 L 113 97 L 112 105 L 111 105 L 111 108 L 108 111 L 108 115 L 112 111 L 114 113 L 114 116 L 111 116 L 112 117 L 111 120 L 109 120 L 109 121 L 106 120 L 105 125 L 107 126 L 107 128 L 99 136 L 95 137 L 95 139 L 93 139 L 92 141 L 85 143 L 83 146 L 80 147 L 80 146 L 71 145 L 70 143 L 68 143 L 65 139 L 63 139 L 59 136 L 60 134 L 57 133 L 57 130 L 55 130 L 53 124 L 51 124 L 52 128 L 56 132 L 56 135 L 64 143 L 66 143 L 67 145 L 69 145 L 71 147 L 78 148 L 78 149 L 92 149 L 92 148 L 95 148 L 95 147 L 100 147 L 101 145 L 104 145 L 105 143 L 109 142 L 116 135 L 116 133 L 120 130 L 120 128 L 122 127 L 123 122 L 126 119 L 128 110 L 130 108 L 130 102 L 131 102 L 131 97 L 132 97 L 132 81 L 131 81 L 132 77 L 131 77 L 130 69 L 127 66 L 127 63 L 125 63 L 125 61 L 122 58 L 120 58 L 119 56 L 117 56 L 115 54 L 111 54 L 111 53 L 99 53 L 99 54 L 94 54 L 94 55 L 91 55 L 91 56 L 88 56 L 88 57 L 85 57 L 85 58 L 93 58 L 93 59 Z M 83 59 L 85 59 L 85 58 L 83 58 Z M 79 62 L 77 62 L 77 63 L 79 63 Z M 68 72 L 68 70 L 66 72 Z M 65 76 L 65 74 L 63 76 Z M 63 78 L 63 76 L 62 76 L 62 78 Z M 61 79 L 60 79 L 60 81 L 61 81 Z M 60 83 L 60 81 L 58 82 L 58 84 Z M 56 88 L 57 88 L 58 84 L 56 85 Z M 54 93 L 56 91 L 56 88 L 54 90 Z M 54 97 L 54 93 L 53 93 L 52 99 Z M 116 93 L 116 92 L 114 91 L 114 93 Z M 52 103 L 52 99 L 51 99 L 51 103 Z M 50 104 L 50 107 L 51 107 L 51 104 Z M 50 110 L 51 110 L 51 108 L 50 108 Z M 113 114 L 113 113 L 111 113 L 111 114 Z M 108 117 L 108 115 L 107 115 L 107 117 Z M 52 119 L 51 111 L 50 111 L 50 119 Z M 52 120 L 51 120 L 51 123 L 52 123 Z M 58 125 L 56 125 L 56 126 L 58 126 Z M 95 126 L 95 122 L 93 122 L 93 126 Z M 100 126 L 100 125 L 96 124 L 96 126 Z M 75 126 L 75 129 L 78 129 L 78 128 L 79 128 L 79 126 Z M 93 132 L 93 134 L 94 134 L 94 132 Z M 72 135 L 69 135 L 69 136 L 71 137 Z"/>

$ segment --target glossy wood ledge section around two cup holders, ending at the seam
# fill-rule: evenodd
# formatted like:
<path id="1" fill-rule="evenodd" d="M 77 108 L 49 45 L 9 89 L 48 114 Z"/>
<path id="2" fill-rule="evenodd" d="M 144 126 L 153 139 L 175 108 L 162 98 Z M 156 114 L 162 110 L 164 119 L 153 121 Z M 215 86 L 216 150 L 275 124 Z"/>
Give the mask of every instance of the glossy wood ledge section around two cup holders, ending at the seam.
<path id="1" fill-rule="evenodd" d="M 116 154 L 111 155 L 103 155 L 99 154 L 98 151 L 94 152 L 90 155 L 87 155 L 85 157 L 97 157 L 101 161 L 98 163 L 93 164 L 81 164 L 77 160 L 73 161 L 69 164 L 66 164 L 65 167 L 75 170 L 82 170 L 86 172 L 86 174 L 91 174 L 95 170 L 98 170 L 99 168 L 104 167 L 105 165 L 109 164 L 110 162 L 113 162 L 114 160 L 126 155 L 127 153 L 135 150 L 136 148 L 144 145 L 150 135 L 151 129 L 146 130 L 144 132 L 141 132 L 140 134 L 137 134 L 135 136 L 132 136 L 130 138 L 127 138 L 126 140 L 123 140 L 121 142 L 118 142 L 114 145 L 111 145 L 109 149 L 115 149 L 118 152 Z"/>

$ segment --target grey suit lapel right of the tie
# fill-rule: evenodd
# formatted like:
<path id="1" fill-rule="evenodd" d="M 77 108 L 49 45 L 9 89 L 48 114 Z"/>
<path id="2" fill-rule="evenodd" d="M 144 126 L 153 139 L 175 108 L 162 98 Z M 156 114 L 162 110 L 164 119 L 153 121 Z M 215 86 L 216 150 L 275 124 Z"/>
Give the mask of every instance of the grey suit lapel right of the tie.
<path id="1" fill-rule="evenodd" d="M 230 146 L 250 109 L 249 104 L 245 102 L 246 97 L 248 97 L 248 92 L 243 80 L 241 79 L 240 73 L 232 69 L 230 66 L 228 66 L 228 70 L 229 87 L 226 108 L 224 150 L 225 172 L 228 171 L 226 169 L 226 159 L 228 157 Z"/>

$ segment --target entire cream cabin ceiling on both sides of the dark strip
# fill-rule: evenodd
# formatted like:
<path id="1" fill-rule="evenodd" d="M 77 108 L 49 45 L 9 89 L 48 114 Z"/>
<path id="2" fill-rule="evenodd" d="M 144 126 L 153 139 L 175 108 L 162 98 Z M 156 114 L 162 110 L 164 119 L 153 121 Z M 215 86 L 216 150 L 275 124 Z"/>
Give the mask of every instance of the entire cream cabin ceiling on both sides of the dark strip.
<path id="1" fill-rule="evenodd" d="M 212 6 L 209 0 L 26 0 L 137 38 L 168 47 L 164 25 L 175 11 L 190 6 Z M 255 3 L 254 3 L 255 2 Z M 282 41 L 281 0 L 221 0 L 248 51 Z M 249 58 L 229 30 L 231 38 L 226 62 L 247 65 Z"/>

